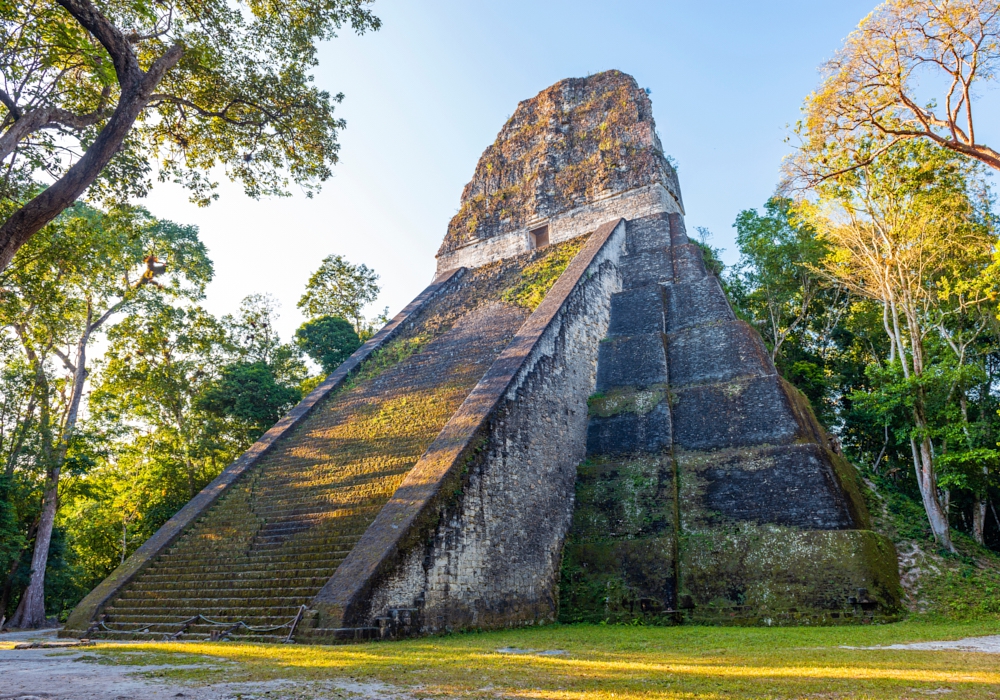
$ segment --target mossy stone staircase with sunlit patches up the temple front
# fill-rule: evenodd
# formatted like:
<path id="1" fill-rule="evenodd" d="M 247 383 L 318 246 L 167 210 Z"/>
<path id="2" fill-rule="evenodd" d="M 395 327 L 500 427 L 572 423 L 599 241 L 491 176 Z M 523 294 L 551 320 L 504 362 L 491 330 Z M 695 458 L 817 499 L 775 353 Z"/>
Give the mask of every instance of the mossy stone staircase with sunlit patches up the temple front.
<path id="1" fill-rule="evenodd" d="M 126 586 L 89 636 L 280 642 L 407 633 L 407 610 L 390 611 L 378 627 L 316 630 L 308 606 L 527 317 L 497 301 L 525 262 L 467 274 L 383 358 L 415 344 L 416 353 L 374 358 L 327 398 Z"/>

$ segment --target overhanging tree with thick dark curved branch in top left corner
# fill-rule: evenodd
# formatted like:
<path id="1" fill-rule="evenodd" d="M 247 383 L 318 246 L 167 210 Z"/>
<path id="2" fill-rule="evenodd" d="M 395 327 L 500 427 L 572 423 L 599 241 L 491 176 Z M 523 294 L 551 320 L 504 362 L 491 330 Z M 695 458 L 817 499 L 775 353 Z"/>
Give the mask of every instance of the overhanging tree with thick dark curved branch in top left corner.
<path id="1" fill-rule="evenodd" d="M 316 44 L 378 29 L 369 2 L 0 3 L 0 270 L 95 183 L 144 192 L 151 163 L 202 204 L 220 165 L 253 197 L 314 190 L 344 126 L 342 95 L 313 84 Z"/>

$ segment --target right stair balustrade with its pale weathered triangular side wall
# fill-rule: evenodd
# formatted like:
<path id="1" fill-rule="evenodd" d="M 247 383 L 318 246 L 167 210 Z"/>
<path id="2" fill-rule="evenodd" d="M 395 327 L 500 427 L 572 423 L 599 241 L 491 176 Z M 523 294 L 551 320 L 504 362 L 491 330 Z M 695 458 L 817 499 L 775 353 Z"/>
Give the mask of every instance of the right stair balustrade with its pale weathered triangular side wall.
<path id="1" fill-rule="evenodd" d="M 624 247 L 624 222 L 591 237 L 317 597 L 317 634 L 554 619 Z"/>

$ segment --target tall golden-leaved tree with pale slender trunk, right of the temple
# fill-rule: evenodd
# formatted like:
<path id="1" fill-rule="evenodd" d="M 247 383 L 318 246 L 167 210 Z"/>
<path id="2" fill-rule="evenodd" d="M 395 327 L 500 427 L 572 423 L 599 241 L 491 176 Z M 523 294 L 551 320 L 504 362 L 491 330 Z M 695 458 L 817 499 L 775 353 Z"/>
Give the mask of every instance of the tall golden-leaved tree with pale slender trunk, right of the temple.
<path id="1" fill-rule="evenodd" d="M 917 484 L 934 536 L 949 549 L 932 442 L 927 344 L 939 330 L 944 301 L 956 284 L 978 290 L 973 293 L 980 301 L 995 293 L 988 278 L 968 281 L 989 269 L 995 245 L 979 182 L 971 161 L 928 142 L 908 142 L 827 181 L 818 190 L 818 202 L 799 208 L 830 246 L 820 269 L 882 307 L 890 341 L 887 360 L 902 374 L 912 421 Z"/>

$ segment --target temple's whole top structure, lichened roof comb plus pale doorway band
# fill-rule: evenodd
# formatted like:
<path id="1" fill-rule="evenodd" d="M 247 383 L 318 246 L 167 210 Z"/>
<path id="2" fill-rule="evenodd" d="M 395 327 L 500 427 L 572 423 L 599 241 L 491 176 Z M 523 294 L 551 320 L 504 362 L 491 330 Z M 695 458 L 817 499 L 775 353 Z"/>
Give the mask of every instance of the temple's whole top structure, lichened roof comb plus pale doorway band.
<path id="1" fill-rule="evenodd" d="M 656 134 L 649 97 L 610 70 L 561 80 L 521 102 L 483 152 L 438 251 L 438 270 L 530 249 L 622 217 L 682 212 L 677 173 Z"/>

